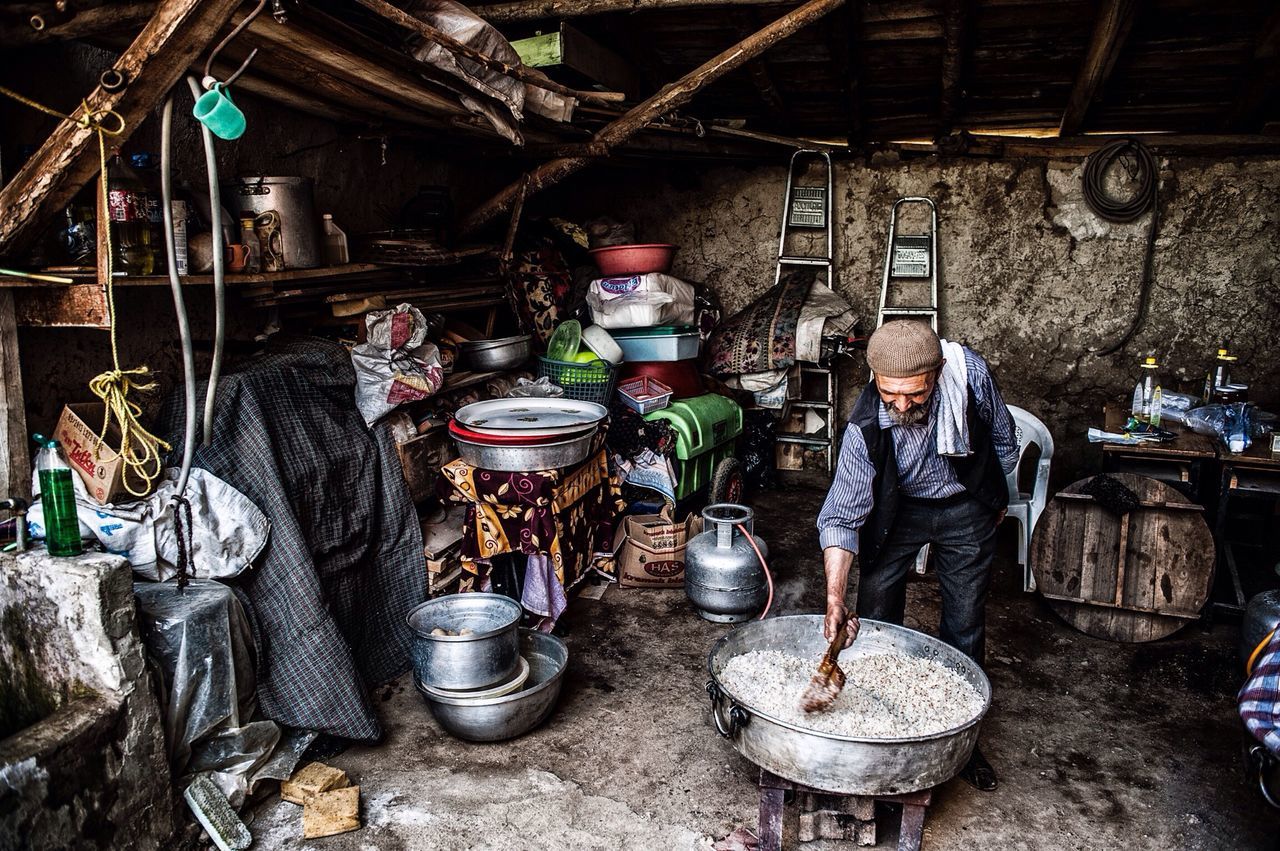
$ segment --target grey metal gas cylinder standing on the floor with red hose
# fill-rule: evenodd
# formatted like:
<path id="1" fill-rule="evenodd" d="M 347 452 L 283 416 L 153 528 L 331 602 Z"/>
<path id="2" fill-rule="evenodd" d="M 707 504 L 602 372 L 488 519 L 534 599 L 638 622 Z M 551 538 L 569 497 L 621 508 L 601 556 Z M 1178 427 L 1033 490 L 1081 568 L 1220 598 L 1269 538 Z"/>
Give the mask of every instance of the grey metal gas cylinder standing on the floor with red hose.
<path id="1" fill-rule="evenodd" d="M 707 531 L 685 548 L 685 594 L 707 621 L 741 623 L 764 607 L 768 586 L 760 559 L 769 550 L 753 534 L 754 518 L 746 505 L 708 505 L 703 509 Z M 748 536 L 760 548 L 759 555 Z"/>

